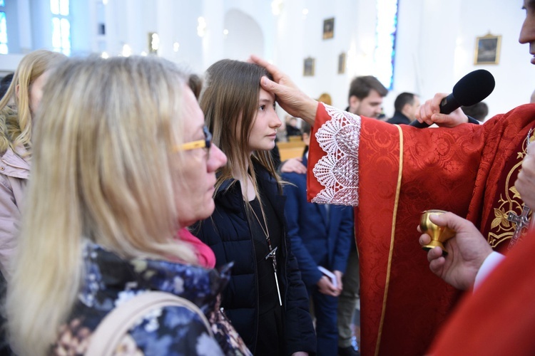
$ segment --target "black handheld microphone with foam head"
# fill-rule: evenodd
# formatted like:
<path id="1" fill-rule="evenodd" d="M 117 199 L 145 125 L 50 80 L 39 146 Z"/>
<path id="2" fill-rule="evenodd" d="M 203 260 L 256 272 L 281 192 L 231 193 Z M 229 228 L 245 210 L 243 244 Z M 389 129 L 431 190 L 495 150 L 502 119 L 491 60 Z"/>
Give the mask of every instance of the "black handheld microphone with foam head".
<path id="1" fill-rule="evenodd" d="M 449 114 L 462 106 L 470 106 L 479 103 L 494 90 L 494 77 L 488 70 L 478 69 L 464 75 L 453 91 L 440 102 L 440 113 Z M 426 122 L 414 120 L 409 125 L 414 127 L 429 127 Z"/>

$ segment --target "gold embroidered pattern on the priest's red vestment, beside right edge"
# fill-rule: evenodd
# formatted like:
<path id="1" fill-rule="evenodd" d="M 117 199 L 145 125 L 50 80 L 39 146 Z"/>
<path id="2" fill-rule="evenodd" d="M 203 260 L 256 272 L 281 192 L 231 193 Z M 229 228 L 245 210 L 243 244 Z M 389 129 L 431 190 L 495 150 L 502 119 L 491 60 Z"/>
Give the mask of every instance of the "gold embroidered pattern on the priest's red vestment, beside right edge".
<path id="1" fill-rule="evenodd" d="M 535 132 L 529 137 L 529 142 L 535 140 Z M 491 229 L 489 231 L 489 236 L 487 236 L 487 241 L 492 248 L 495 248 L 501 242 L 511 239 L 516 229 L 515 224 L 511 224 L 511 221 L 507 220 L 509 211 L 514 212 L 516 215 L 522 213 L 522 207 L 524 201 L 520 197 L 519 192 L 514 187 L 514 182 L 511 182 L 511 177 L 514 172 L 518 172 L 521 165 L 522 159 L 526 155 L 527 148 L 527 137 L 522 144 L 522 152 L 518 152 L 516 159 L 519 160 L 514 167 L 507 173 L 504 193 L 500 194 L 499 206 L 494 208 L 494 219 L 491 223 Z M 516 176 L 515 176 L 516 177 Z"/>

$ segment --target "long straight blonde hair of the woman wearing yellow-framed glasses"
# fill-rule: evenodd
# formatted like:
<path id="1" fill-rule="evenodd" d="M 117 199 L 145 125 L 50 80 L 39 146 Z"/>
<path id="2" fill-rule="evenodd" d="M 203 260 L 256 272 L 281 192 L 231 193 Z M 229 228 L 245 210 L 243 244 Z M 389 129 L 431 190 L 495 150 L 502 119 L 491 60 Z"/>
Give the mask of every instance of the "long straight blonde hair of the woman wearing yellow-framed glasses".
<path id="1" fill-rule="evenodd" d="M 83 280 L 84 239 L 123 258 L 175 256 L 187 78 L 161 58 L 70 59 L 46 83 L 7 298 L 12 345 L 44 355 Z"/>

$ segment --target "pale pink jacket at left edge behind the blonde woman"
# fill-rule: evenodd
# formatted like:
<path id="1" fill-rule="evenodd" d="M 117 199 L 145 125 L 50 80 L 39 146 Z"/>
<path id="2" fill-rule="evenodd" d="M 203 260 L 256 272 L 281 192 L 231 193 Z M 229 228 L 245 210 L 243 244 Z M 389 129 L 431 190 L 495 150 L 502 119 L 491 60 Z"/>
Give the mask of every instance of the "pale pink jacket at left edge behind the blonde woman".
<path id="1" fill-rule="evenodd" d="M 0 159 L 0 271 L 9 281 L 11 259 L 19 234 L 22 201 L 30 173 L 29 162 L 10 148 Z"/>

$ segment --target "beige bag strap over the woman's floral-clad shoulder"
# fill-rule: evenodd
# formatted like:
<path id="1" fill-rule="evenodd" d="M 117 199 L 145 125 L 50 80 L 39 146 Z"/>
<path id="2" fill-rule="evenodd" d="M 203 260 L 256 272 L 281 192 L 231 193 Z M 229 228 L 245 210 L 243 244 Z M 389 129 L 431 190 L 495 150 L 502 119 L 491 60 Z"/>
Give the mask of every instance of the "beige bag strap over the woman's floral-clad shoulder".
<path id="1" fill-rule="evenodd" d="M 136 295 L 111 310 L 91 335 L 86 356 L 111 356 L 128 330 L 139 318 L 156 308 L 179 306 L 197 313 L 206 331 L 213 336 L 210 323 L 197 305 L 178 295 L 165 292 L 146 292 Z"/>

